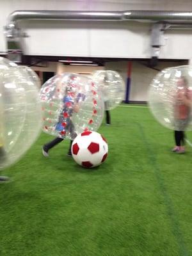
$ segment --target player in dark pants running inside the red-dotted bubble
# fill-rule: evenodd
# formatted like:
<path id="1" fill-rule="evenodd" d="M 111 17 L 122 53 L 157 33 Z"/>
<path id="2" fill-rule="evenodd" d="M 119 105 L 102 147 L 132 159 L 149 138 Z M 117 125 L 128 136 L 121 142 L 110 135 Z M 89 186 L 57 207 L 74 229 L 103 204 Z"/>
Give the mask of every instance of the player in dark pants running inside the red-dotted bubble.
<path id="1" fill-rule="evenodd" d="M 72 115 L 73 113 L 79 112 L 79 101 L 84 100 L 85 95 L 83 93 L 77 93 L 76 100 L 74 100 L 74 92 L 72 92 L 71 86 L 67 86 L 65 90 L 65 96 L 63 97 L 63 108 L 61 109 L 58 122 L 55 124 L 55 130 L 59 132 L 62 136 L 56 137 L 54 140 L 46 143 L 42 148 L 42 153 L 45 157 L 49 157 L 49 150 L 61 141 L 64 140 L 65 134 L 67 132 L 70 133 L 70 146 L 68 149 L 67 156 L 72 156 L 71 146 L 73 140 L 76 138 L 77 134 L 75 132 L 74 124 L 72 123 Z M 63 138 L 64 137 L 64 138 Z"/>

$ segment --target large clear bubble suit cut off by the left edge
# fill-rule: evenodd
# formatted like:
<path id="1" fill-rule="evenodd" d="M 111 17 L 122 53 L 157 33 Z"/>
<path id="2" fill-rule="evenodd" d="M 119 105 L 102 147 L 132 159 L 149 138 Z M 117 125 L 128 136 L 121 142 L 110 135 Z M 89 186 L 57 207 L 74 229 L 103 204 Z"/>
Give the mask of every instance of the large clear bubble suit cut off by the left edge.
<path id="1" fill-rule="evenodd" d="M 15 163 L 41 130 L 36 86 L 15 63 L 0 58 L 0 169 Z"/>

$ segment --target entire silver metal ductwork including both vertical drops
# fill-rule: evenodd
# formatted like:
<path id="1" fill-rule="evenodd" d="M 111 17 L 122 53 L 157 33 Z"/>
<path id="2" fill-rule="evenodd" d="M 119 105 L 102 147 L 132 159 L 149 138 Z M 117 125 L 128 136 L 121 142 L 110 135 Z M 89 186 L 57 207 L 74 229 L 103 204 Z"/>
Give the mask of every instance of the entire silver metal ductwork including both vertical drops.
<path id="1" fill-rule="evenodd" d="M 19 10 L 11 13 L 4 28 L 8 58 L 21 62 L 22 38 L 26 36 L 19 28 L 20 20 L 108 20 L 152 23 L 151 46 L 152 59 L 157 60 L 162 45 L 165 29 L 192 28 L 192 12 L 170 11 L 141 11 L 128 10 L 125 12 L 84 12 L 84 11 L 44 11 L 44 10 Z M 156 62 L 156 61 L 155 61 Z M 155 63 L 154 62 L 154 63 Z"/>

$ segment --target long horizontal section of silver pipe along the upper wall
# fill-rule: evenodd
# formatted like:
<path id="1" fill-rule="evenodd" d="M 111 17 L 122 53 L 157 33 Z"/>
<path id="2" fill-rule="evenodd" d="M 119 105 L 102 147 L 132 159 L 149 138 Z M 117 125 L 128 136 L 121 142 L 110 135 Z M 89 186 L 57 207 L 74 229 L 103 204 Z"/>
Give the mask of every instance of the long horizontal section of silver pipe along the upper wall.
<path id="1" fill-rule="evenodd" d="M 179 21 L 192 22 L 192 12 L 140 11 L 125 12 L 84 12 L 84 11 L 44 11 L 20 10 L 11 13 L 8 24 L 25 19 L 46 20 L 145 20 L 145 21 Z"/>

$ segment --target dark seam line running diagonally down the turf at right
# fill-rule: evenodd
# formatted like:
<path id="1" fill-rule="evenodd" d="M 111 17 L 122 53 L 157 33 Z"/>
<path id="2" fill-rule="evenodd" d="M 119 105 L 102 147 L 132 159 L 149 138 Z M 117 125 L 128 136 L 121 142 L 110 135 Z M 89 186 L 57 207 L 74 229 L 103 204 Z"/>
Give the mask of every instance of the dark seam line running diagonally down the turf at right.
<path id="1" fill-rule="evenodd" d="M 177 220 L 177 214 L 175 213 L 172 200 L 168 195 L 168 191 L 164 184 L 164 178 L 163 178 L 163 174 L 161 173 L 161 168 L 159 167 L 159 164 L 157 163 L 157 160 L 156 160 L 156 156 L 150 146 L 150 143 L 147 140 L 147 136 L 145 134 L 143 126 L 137 122 L 136 122 L 136 125 L 140 129 L 141 140 L 143 140 L 143 143 L 145 144 L 145 147 L 148 152 L 148 159 L 150 160 L 150 163 L 153 167 L 154 175 L 156 177 L 159 190 L 163 195 L 164 205 L 166 206 L 166 211 L 168 216 L 170 217 L 170 221 L 172 224 L 173 236 L 175 236 L 175 238 L 177 239 L 177 243 L 179 244 L 179 255 L 189 256 L 188 249 L 186 248 L 186 245 L 184 243 L 184 237 L 182 236 L 182 232 L 180 230 L 179 221 Z"/>

